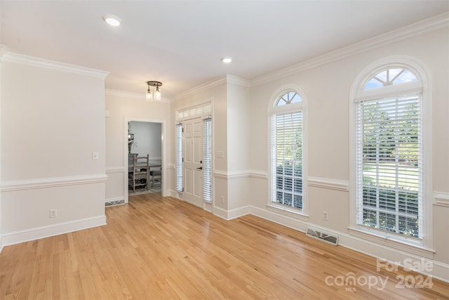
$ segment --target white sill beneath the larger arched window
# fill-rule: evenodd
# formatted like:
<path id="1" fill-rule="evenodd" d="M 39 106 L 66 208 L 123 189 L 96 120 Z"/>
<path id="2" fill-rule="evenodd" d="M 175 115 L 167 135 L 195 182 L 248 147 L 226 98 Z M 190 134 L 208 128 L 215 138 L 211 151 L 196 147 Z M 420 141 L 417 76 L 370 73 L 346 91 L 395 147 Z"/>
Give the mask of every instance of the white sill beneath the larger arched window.
<path id="1" fill-rule="evenodd" d="M 419 255 L 427 259 L 434 259 L 435 250 L 426 248 L 422 243 L 415 240 L 408 240 L 406 238 L 394 237 L 384 233 L 377 232 L 377 230 L 369 230 L 366 228 L 349 227 L 349 234 L 359 237 L 363 240 L 381 244 L 386 247 L 401 250 L 411 254 Z"/>

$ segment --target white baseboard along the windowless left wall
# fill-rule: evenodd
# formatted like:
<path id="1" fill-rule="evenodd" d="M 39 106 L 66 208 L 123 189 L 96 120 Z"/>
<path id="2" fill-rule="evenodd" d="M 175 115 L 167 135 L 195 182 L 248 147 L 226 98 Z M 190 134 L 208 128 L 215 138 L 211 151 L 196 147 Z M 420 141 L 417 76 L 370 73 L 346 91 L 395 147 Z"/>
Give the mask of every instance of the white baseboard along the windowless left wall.
<path id="1" fill-rule="evenodd" d="M 54 235 L 62 235 L 64 233 L 72 233 L 74 231 L 93 228 L 106 225 L 106 216 L 94 216 L 91 218 L 58 223 L 48 226 L 41 226 L 27 230 L 15 231 L 13 233 L 4 233 L 1 236 L 0 246 L 8 246 L 11 244 L 19 244 L 30 240 L 38 240 L 44 237 L 52 237 Z M 0 249 L 3 249 L 0 248 Z"/>

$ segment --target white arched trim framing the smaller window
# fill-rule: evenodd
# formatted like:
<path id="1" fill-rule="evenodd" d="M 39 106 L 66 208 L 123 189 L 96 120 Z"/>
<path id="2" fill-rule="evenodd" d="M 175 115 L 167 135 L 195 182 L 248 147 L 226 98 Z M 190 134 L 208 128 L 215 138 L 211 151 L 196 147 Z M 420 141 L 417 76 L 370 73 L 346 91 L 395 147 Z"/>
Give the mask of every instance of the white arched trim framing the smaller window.
<path id="1" fill-rule="evenodd" d="M 284 93 L 295 92 L 297 93 L 302 101 L 300 103 L 290 103 L 288 105 L 280 105 L 274 106 L 276 102 L 279 100 Z M 309 204 L 308 204 L 308 185 L 307 185 L 307 174 L 308 174 L 308 151 L 307 147 L 302 148 L 302 210 L 295 209 L 294 207 L 286 207 L 281 204 L 276 204 L 276 202 L 272 202 L 272 115 L 288 113 L 288 112 L 297 112 L 302 110 L 302 143 L 303 145 L 307 145 L 307 99 L 304 96 L 304 92 L 302 89 L 295 84 L 285 84 L 276 89 L 270 100 L 268 102 L 268 110 L 267 110 L 267 167 L 268 167 L 268 184 L 267 184 L 267 207 L 276 209 L 280 214 L 285 214 L 287 216 L 297 215 L 298 217 L 304 219 L 309 216 Z"/>

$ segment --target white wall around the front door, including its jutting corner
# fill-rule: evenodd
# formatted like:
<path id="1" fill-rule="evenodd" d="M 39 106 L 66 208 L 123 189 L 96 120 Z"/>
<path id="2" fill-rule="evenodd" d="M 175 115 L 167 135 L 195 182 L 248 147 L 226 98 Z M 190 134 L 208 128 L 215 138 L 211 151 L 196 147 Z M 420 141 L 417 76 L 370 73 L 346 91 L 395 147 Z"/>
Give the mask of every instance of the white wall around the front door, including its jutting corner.
<path id="1" fill-rule="evenodd" d="M 241 214 L 250 200 L 249 96 L 248 81 L 227 75 L 179 96 L 171 105 L 171 115 L 175 118 L 178 110 L 213 102 L 213 203 L 212 207 L 205 203 L 204 209 L 224 219 Z M 174 141 L 172 147 L 174 150 Z M 223 152 L 224 157 L 217 155 L 218 152 Z M 174 155 L 171 159 L 174 163 Z M 173 191 L 173 195 L 182 199 L 182 193 Z"/>

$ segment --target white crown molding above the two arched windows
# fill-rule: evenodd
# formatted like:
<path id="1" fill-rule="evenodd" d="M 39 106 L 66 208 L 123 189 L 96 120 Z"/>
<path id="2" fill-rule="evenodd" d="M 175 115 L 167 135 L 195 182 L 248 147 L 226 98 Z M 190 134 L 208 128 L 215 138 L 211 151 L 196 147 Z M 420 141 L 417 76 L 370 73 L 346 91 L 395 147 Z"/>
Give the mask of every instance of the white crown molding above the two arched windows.
<path id="1" fill-rule="evenodd" d="M 317 56 L 316 58 L 311 58 L 305 60 L 302 63 L 297 63 L 289 67 L 285 67 L 281 70 L 276 70 L 269 74 L 264 74 L 251 80 L 250 86 L 257 86 L 260 84 L 265 84 L 269 81 L 280 79 L 282 77 L 287 77 L 289 75 L 308 70 L 326 63 L 331 63 L 335 60 L 340 60 L 347 56 L 352 56 L 357 53 L 364 51 L 373 50 L 388 44 L 392 44 L 396 41 L 401 41 L 403 39 L 410 39 L 412 37 L 417 37 L 421 34 L 431 32 L 434 30 L 439 30 L 444 27 L 449 26 L 449 13 L 442 13 L 441 15 L 436 15 L 435 17 L 422 20 L 420 22 L 415 22 L 411 25 L 398 28 L 391 32 L 386 32 L 380 34 L 377 37 L 371 39 L 366 39 L 365 41 L 360 41 L 356 44 L 346 46 L 344 48 L 331 51 L 329 53 L 323 54 L 322 56 Z"/>

